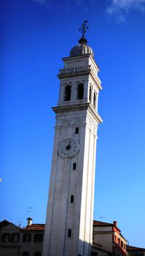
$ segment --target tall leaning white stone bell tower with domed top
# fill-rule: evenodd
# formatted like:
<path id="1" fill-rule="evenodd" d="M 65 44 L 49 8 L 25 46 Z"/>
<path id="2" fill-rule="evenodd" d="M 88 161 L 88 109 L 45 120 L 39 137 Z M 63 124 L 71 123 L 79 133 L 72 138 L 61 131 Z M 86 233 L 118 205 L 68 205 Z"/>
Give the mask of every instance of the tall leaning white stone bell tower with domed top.
<path id="1" fill-rule="evenodd" d="M 98 94 L 93 50 L 82 38 L 63 58 L 56 113 L 43 256 L 90 256 L 93 238 Z"/>

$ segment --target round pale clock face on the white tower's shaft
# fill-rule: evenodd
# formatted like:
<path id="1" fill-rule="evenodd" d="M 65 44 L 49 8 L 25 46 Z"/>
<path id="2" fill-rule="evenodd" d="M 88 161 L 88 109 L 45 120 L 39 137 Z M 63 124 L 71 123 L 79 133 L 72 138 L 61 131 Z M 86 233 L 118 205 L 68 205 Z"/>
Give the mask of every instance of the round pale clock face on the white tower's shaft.
<path id="1" fill-rule="evenodd" d="M 79 151 L 79 142 L 75 139 L 68 138 L 58 145 L 58 153 L 63 158 L 72 158 Z"/>

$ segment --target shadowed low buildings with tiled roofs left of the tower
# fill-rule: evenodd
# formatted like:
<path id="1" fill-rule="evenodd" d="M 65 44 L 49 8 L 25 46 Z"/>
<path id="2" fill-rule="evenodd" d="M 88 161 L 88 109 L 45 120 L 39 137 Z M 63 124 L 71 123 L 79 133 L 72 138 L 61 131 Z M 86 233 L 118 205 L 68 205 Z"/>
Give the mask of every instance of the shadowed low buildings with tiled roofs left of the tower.
<path id="1" fill-rule="evenodd" d="M 42 256 L 44 224 L 29 224 L 22 228 L 0 222 L 1 256 Z"/>

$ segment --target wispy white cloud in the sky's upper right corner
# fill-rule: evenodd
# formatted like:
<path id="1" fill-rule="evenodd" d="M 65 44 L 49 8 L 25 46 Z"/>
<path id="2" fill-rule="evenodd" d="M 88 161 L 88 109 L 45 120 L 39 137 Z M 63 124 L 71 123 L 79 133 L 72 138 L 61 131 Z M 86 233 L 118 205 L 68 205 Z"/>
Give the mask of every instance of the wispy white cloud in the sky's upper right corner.
<path id="1" fill-rule="evenodd" d="M 125 22 L 125 15 L 133 9 L 145 10 L 145 0 L 111 0 L 106 12 L 109 15 L 117 15 L 117 20 Z"/>

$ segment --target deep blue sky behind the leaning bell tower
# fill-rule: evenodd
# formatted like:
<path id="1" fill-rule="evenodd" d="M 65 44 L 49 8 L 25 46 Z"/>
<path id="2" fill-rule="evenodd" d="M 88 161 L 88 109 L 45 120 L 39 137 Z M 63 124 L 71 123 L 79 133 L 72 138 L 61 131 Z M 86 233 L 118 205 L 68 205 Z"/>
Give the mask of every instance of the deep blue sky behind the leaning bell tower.
<path id="1" fill-rule="evenodd" d="M 81 37 L 100 67 L 94 219 L 145 247 L 145 0 L 1 1 L 0 220 L 44 223 L 62 57 Z M 103 217 L 103 218 L 102 218 Z"/>

